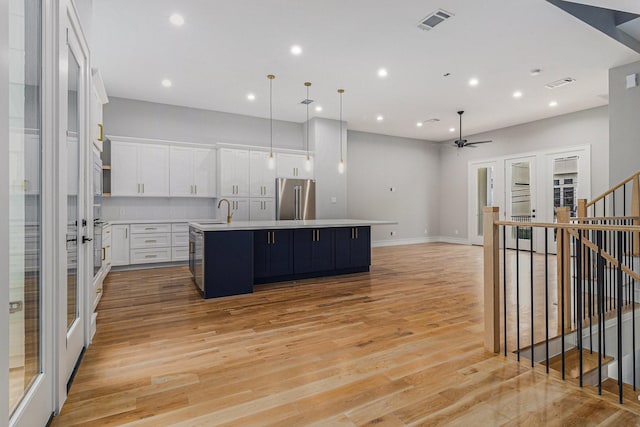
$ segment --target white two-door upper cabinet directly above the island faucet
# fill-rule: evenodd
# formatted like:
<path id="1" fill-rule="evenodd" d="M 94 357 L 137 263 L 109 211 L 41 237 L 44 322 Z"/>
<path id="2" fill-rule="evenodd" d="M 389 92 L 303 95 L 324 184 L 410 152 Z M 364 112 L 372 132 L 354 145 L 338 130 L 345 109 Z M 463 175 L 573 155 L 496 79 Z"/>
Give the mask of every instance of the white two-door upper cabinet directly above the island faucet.
<path id="1" fill-rule="evenodd" d="M 249 197 L 249 167 L 248 150 L 221 148 L 218 151 L 218 182 L 220 183 L 218 195 Z"/>

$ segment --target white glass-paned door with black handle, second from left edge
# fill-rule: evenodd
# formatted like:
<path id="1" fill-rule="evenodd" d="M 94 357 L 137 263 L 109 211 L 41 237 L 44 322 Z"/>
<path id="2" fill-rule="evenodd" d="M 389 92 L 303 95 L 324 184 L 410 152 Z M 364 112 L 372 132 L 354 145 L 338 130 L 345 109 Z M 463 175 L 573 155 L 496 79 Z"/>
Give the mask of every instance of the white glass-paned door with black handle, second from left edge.
<path id="1" fill-rule="evenodd" d="M 87 194 L 92 150 L 89 129 L 89 68 L 88 48 L 69 3 L 65 14 L 66 37 L 60 46 L 60 173 L 58 187 L 61 201 L 59 227 L 62 251 L 61 285 L 58 289 L 58 319 L 61 329 L 59 345 L 58 402 L 66 399 L 67 383 L 87 342 L 88 316 L 91 312 L 87 292 L 92 286 L 93 238 L 87 227 L 89 218 Z"/>

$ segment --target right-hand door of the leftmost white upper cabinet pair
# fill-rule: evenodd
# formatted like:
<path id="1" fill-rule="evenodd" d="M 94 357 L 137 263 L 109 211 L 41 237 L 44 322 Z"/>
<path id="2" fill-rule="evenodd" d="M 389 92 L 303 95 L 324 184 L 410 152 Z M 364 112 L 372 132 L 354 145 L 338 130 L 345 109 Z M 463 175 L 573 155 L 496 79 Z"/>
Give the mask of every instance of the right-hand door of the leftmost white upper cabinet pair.
<path id="1" fill-rule="evenodd" d="M 169 147 L 136 144 L 138 147 L 138 182 L 142 195 L 169 196 Z M 113 174 L 113 171 L 111 172 Z"/>

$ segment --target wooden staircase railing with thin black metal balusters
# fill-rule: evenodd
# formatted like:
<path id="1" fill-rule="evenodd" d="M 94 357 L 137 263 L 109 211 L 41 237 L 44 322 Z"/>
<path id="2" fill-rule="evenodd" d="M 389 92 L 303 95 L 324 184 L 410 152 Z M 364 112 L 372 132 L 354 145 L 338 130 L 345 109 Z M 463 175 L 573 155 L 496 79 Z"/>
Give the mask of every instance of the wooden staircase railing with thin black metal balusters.
<path id="1" fill-rule="evenodd" d="M 637 181 L 634 176 L 630 179 Z M 615 189 L 591 205 L 609 194 Z M 563 379 L 571 371 L 568 358 L 575 357 L 577 374 L 570 376 L 580 386 L 586 379 L 599 393 L 609 376 L 607 364 L 614 363 L 611 376 L 622 403 L 623 382 L 636 388 L 638 219 L 584 216 L 571 222 L 568 209 L 560 208 L 559 223 L 513 222 L 500 221 L 498 208 L 485 208 L 486 348 L 518 360 L 527 357 L 532 366 L 543 362 L 547 372 L 557 362 Z M 519 236 L 520 229 L 529 230 L 530 246 L 521 248 L 516 238 L 515 249 L 504 249 L 508 236 Z M 554 232 L 557 254 L 550 251 Z"/>

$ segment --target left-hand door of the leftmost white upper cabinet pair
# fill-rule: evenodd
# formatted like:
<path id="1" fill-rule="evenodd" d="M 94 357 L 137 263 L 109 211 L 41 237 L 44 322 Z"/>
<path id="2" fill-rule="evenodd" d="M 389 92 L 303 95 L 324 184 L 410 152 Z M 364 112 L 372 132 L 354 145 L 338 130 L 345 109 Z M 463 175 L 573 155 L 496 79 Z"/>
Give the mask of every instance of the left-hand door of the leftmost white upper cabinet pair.
<path id="1" fill-rule="evenodd" d="M 138 149 L 124 142 L 111 142 L 111 195 L 138 196 Z"/>

